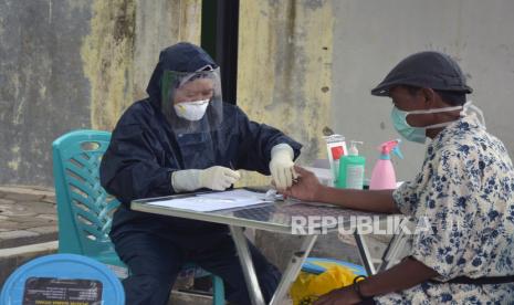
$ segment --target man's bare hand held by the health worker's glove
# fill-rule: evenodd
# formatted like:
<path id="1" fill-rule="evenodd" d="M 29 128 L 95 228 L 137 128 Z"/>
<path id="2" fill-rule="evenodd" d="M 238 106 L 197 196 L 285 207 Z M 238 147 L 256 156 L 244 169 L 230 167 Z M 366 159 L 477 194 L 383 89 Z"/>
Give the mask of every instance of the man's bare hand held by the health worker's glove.
<path id="1" fill-rule="evenodd" d="M 294 170 L 298 175 L 296 182 L 286 190 L 280 190 L 280 192 L 304 201 L 316 201 L 323 189 L 319 180 L 312 171 L 300 166 L 295 166 Z"/>

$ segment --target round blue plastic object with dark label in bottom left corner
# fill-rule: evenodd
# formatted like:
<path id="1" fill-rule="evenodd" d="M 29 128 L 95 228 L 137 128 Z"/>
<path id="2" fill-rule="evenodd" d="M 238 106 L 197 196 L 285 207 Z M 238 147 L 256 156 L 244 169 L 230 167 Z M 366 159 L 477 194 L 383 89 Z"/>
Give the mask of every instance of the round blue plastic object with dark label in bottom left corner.
<path id="1" fill-rule="evenodd" d="M 17 269 L 0 294 L 2 305 L 39 304 L 38 301 L 41 304 L 46 304 L 45 301 L 66 304 L 67 301 L 101 301 L 102 304 L 124 305 L 125 293 L 122 282 L 104 264 L 76 254 L 51 254 Z"/>

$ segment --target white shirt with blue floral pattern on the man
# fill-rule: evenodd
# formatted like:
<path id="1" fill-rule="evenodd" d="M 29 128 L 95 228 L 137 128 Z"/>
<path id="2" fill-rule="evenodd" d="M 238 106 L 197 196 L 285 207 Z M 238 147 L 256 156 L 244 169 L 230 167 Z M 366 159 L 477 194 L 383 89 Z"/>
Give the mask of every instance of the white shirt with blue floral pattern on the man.
<path id="1" fill-rule="evenodd" d="M 436 270 L 438 281 L 514 275 L 514 168 L 502 141 L 474 114 L 433 139 L 421 172 L 399 187 L 394 199 L 403 214 L 429 229 L 413 235 L 410 255 Z M 514 304 L 514 283 L 426 282 L 375 301 Z"/>

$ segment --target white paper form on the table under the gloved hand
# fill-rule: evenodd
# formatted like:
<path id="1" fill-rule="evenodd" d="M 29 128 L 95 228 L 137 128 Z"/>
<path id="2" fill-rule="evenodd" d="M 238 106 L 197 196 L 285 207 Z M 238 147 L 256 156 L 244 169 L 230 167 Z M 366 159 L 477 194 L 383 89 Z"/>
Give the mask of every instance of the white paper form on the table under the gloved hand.
<path id="1" fill-rule="evenodd" d="M 242 208 L 264 202 L 272 202 L 266 199 L 265 193 L 249 190 L 231 190 L 223 192 L 201 193 L 187 198 L 176 198 L 148 202 L 148 204 L 192 210 L 198 212 L 211 212 L 218 210 Z"/>

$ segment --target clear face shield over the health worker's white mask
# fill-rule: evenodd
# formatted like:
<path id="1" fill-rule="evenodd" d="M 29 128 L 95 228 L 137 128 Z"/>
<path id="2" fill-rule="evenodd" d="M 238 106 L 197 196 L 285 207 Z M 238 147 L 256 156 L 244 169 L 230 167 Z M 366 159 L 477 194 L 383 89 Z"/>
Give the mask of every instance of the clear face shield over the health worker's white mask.
<path id="1" fill-rule="evenodd" d="M 220 71 L 210 65 L 197 72 L 165 71 L 161 109 L 176 134 L 208 133 L 223 120 Z"/>

